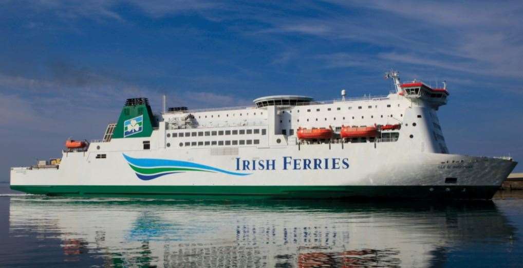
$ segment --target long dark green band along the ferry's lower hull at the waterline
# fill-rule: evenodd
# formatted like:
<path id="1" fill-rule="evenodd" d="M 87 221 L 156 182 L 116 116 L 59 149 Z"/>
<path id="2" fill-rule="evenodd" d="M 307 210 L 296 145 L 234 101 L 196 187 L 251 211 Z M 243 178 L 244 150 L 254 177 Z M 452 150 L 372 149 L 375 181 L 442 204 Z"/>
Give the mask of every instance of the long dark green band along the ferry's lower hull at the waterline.
<path id="1" fill-rule="evenodd" d="M 29 194 L 176 196 L 180 198 L 465 198 L 490 199 L 497 186 L 117 186 L 12 185 Z"/>

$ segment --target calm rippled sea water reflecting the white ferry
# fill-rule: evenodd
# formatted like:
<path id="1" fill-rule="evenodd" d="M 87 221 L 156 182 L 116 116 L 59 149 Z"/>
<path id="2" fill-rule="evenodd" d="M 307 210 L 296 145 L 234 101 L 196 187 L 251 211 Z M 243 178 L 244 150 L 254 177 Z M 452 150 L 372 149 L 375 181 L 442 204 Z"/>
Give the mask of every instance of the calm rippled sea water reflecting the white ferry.
<path id="1" fill-rule="evenodd" d="M 522 196 L 187 202 L 20 195 L 0 184 L 0 266 L 521 267 Z"/>

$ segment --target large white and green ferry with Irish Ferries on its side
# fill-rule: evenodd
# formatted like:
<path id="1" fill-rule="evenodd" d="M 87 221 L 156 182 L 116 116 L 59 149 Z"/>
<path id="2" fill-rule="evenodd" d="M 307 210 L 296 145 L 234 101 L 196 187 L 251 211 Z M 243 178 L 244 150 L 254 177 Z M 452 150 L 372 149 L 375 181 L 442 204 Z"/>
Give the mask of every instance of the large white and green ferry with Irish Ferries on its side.
<path id="1" fill-rule="evenodd" d="M 102 140 L 67 140 L 62 157 L 12 168 L 10 187 L 65 196 L 490 199 L 517 162 L 451 154 L 437 111 L 449 92 L 422 81 L 384 96 L 167 108 L 127 99 Z"/>

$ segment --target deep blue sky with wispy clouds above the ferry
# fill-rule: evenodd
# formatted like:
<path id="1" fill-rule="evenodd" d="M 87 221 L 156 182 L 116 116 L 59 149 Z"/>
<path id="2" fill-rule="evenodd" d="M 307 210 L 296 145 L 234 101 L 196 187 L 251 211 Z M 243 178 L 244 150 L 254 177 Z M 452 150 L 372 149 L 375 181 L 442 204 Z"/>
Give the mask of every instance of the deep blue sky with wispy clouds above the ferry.
<path id="1" fill-rule="evenodd" d="M 0 181 L 98 139 L 128 97 L 153 110 L 270 94 L 384 95 L 446 80 L 451 153 L 523 160 L 523 2 L 0 0 Z M 519 165 L 517 171 L 523 171 Z"/>

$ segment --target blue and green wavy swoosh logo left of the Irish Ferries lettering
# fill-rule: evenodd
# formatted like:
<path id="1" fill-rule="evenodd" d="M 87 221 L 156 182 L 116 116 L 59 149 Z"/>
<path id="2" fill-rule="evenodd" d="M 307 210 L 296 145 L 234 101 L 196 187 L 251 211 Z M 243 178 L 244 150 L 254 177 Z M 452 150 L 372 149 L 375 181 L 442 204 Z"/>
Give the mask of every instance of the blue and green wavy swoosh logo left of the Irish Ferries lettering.
<path id="1" fill-rule="evenodd" d="M 132 158 L 123 154 L 131 169 L 134 170 L 140 180 L 149 181 L 163 175 L 182 173 L 188 171 L 200 171 L 211 173 L 224 173 L 235 176 L 251 175 L 252 173 L 237 173 L 215 168 L 214 166 L 202 165 L 194 162 L 155 159 L 155 158 Z"/>

